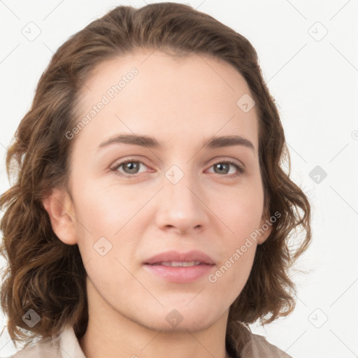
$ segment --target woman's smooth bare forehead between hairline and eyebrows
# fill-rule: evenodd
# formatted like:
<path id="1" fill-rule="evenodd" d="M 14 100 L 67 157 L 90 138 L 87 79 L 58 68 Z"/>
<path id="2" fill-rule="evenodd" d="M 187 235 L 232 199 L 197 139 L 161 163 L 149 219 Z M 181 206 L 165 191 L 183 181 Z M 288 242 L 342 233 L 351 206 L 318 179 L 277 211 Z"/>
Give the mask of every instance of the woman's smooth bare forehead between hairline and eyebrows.
<path id="1" fill-rule="evenodd" d="M 256 108 L 245 112 L 238 105 L 245 96 L 252 97 L 241 73 L 220 59 L 137 50 L 96 66 L 80 91 L 78 120 L 106 98 L 83 130 L 92 137 L 113 131 L 159 139 L 245 134 L 257 147 Z"/>

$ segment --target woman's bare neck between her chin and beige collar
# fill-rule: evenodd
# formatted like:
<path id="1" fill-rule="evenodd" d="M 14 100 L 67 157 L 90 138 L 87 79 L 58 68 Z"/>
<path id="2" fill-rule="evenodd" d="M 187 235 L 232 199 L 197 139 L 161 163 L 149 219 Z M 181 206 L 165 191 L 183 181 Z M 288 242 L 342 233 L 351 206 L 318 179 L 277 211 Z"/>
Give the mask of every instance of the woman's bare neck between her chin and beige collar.
<path id="1" fill-rule="evenodd" d="M 87 358 L 228 358 L 227 310 L 204 329 L 155 329 L 119 313 L 87 280 L 89 320 L 78 342 Z"/>

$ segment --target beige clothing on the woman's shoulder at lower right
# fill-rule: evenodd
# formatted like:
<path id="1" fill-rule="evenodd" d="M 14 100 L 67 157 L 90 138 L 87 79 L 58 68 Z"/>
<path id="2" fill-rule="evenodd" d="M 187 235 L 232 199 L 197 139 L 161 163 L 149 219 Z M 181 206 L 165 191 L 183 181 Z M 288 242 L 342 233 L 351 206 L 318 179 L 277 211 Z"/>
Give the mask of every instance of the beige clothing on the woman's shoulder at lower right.
<path id="1" fill-rule="evenodd" d="M 245 346 L 243 358 L 292 358 L 280 348 L 269 343 L 264 336 L 250 332 L 250 341 Z"/>

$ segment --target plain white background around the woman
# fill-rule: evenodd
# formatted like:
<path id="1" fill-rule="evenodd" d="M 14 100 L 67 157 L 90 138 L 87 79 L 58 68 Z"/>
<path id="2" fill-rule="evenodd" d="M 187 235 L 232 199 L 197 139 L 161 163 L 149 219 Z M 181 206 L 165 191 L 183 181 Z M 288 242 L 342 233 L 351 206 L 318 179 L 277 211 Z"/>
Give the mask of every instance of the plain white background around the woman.
<path id="1" fill-rule="evenodd" d="M 296 309 L 252 330 L 294 358 L 358 357 L 357 0 L 176 2 L 212 15 L 254 45 L 280 109 L 292 179 L 313 207 L 313 243 L 297 265 L 308 273 L 293 273 Z M 52 53 L 118 5 L 145 1 L 0 0 L 0 192 L 9 187 L 6 148 Z M 34 41 L 22 34 L 34 27 L 29 22 L 41 30 Z M 320 182 L 309 175 L 315 166 L 327 172 Z M 15 352 L 6 334 L 1 357 Z"/>

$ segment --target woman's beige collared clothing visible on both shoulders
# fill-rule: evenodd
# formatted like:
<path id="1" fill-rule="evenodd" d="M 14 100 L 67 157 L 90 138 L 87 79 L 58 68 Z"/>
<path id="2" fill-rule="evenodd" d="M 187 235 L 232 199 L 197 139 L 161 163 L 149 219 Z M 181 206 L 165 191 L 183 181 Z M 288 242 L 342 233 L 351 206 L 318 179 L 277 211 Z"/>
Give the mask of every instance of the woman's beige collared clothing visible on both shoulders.
<path id="1" fill-rule="evenodd" d="M 241 358 L 292 358 L 275 345 L 266 341 L 264 336 L 250 332 L 252 354 Z M 71 325 L 67 325 L 57 338 L 50 341 L 39 340 L 31 347 L 20 350 L 15 355 L 7 358 L 86 358 L 80 348 L 75 331 Z M 6 358 L 6 357 L 4 357 Z M 235 357 L 236 358 L 236 357 Z"/>

